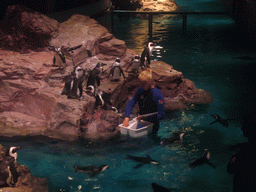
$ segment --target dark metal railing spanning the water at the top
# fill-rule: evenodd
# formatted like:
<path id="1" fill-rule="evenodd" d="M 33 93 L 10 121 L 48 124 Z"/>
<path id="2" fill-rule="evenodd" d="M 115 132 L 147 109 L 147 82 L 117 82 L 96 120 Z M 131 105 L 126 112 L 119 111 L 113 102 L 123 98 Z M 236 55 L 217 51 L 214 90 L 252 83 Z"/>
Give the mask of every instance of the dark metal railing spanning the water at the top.
<path id="1" fill-rule="evenodd" d="M 126 11 L 126 10 L 111 10 L 112 20 L 112 31 L 114 26 L 113 14 L 143 14 L 148 15 L 148 33 L 152 36 L 153 32 L 153 15 L 182 15 L 183 16 L 183 33 L 187 32 L 187 15 L 197 14 L 213 14 L 213 15 L 228 15 L 227 12 L 223 11 Z"/>

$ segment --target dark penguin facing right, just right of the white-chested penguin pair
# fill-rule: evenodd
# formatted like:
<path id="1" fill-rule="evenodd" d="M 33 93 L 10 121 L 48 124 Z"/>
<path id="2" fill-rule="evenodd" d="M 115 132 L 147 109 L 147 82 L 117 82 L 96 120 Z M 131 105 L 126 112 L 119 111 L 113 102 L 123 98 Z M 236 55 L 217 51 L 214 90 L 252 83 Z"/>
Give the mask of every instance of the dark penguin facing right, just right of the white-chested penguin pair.
<path id="1" fill-rule="evenodd" d="M 106 64 L 97 63 L 97 65 L 90 71 L 86 87 L 91 85 L 95 89 L 96 87 L 100 86 L 100 75 L 103 73 L 104 65 Z"/>

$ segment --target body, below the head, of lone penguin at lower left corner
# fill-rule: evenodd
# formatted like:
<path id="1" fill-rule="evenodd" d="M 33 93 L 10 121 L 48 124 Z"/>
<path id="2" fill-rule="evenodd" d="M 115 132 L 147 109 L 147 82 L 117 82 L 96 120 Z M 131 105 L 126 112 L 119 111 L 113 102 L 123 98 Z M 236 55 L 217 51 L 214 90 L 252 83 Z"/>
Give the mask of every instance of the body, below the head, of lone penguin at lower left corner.
<path id="1" fill-rule="evenodd" d="M 15 167 L 15 159 L 6 156 L 0 161 L 0 186 L 13 187 L 18 181 L 18 172 Z"/>

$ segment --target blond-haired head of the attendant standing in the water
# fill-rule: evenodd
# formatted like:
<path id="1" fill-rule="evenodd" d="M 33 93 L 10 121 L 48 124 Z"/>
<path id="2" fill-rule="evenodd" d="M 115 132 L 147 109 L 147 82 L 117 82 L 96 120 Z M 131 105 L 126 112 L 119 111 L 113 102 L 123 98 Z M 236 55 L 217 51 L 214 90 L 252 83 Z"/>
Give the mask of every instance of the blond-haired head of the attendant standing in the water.
<path id="1" fill-rule="evenodd" d="M 142 71 L 138 79 L 140 81 L 140 87 L 142 87 L 145 91 L 149 89 L 153 89 L 155 87 L 153 80 L 153 72 L 150 68 Z"/>

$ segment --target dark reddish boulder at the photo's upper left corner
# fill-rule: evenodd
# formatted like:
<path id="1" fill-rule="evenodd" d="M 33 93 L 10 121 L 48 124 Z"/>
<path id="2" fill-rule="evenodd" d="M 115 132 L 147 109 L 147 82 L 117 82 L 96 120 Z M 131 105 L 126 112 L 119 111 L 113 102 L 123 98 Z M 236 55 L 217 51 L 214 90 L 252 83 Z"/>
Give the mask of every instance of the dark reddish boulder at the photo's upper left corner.
<path id="1" fill-rule="evenodd" d="M 21 53 L 48 45 L 58 22 L 22 5 L 8 6 L 0 22 L 0 47 Z"/>

